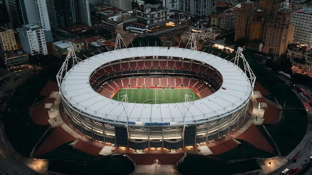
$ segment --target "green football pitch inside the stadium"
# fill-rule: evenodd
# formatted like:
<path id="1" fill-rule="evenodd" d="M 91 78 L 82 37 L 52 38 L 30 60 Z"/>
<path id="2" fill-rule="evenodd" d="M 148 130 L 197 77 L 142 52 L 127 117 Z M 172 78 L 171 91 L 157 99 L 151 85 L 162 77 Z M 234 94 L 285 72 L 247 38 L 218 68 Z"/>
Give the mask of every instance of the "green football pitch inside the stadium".
<path id="1" fill-rule="evenodd" d="M 125 101 L 125 94 L 128 102 L 151 104 L 184 102 L 185 94 L 187 101 L 200 98 L 191 88 L 121 88 L 112 99 Z"/>

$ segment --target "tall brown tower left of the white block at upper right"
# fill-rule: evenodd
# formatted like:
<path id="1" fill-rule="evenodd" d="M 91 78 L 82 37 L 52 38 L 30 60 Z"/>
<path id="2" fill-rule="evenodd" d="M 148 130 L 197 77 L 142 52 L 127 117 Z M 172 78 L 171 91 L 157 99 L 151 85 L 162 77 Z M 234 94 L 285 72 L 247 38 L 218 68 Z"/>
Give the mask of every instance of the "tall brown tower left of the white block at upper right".
<path id="1" fill-rule="evenodd" d="M 269 10 L 263 33 L 263 52 L 280 56 L 287 51 L 288 44 L 294 39 L 295 26 L 293 11 L 289 7 L 274 3 Z"/>

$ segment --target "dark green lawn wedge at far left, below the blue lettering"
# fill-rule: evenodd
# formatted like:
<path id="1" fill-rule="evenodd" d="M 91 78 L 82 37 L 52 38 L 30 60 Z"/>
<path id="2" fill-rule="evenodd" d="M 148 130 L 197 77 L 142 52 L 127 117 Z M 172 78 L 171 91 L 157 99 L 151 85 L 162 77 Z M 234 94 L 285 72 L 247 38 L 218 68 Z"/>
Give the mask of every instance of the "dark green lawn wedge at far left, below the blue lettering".
<path id="1" fill-rule="evenodd" d="M 48 129 L 48 126 L 38 126 L 27 123 L 7 123 L 5 134 L 14 149 L 25 157 L 29 154 L 41 136 Z"/>

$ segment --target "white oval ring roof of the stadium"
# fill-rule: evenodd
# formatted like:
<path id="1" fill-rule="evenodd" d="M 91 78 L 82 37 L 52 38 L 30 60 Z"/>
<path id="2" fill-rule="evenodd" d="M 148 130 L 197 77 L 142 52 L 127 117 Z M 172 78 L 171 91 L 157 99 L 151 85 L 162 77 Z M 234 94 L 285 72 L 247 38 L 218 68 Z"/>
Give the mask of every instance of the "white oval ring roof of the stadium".
<path id="1" fill-rule="evenodd" d="M 185 111 L 183 102 L 120 105 L 119 101 L 97 93 L 89 84 L 90 74 L 101 65 L 123 58 L 155 55 L 183 57 L 211 65 L 220 72 L 224 80 L 222 88 L 205 98 L 195 100 Z M 76 64 L 66 73 L 59 84 L 63 101 L 81 113 L 95 120 L 105 120 L 109 123 L 120 124 L 131 121 L 138 125 L 142 122 L 159 121 L 170 122 L 170 125 L 184 125 L 223 118 L 245 106 L 253 91 L 246 74 L 232 62 L 205 52 L 173 47 L 169 49 L 166 47 L 134 47 L 98 54 Z M 77 86 L 78 84 L 79 86 Z M 127 110 L 124 109 L 125 105 Z"/>

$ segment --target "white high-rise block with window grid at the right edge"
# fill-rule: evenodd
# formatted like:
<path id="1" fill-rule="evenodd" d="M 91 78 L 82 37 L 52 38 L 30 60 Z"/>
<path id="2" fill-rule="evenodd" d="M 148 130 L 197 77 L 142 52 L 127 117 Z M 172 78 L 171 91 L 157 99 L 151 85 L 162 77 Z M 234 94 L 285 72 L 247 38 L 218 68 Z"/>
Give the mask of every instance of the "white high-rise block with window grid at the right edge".
<path id="1" fill-rule="evenodd" d="M 312 45 L 312 8 L 303 8 L 294 12 L 293 23 L 295 24 L 294 40 L 300 44 Z"/>

